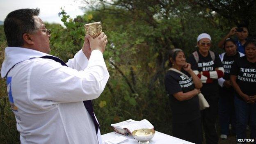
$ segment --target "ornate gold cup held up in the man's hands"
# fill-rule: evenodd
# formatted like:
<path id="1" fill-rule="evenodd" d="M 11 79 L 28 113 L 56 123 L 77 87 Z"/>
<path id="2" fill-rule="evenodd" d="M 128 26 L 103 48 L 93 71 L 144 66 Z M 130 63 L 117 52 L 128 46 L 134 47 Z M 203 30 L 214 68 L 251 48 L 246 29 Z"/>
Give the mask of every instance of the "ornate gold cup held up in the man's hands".
<path id="1" fill-rule="evenodd" d="M 88 23 L 85 26 L 85 32 L 86 34 L 91 35 L 92 38 L 96 38 L 98 37 L 98 35 L 101 34 L 102 32 L 102 26 L 101 26 L 101 22 L 94 22 L 94 23 Z"/>

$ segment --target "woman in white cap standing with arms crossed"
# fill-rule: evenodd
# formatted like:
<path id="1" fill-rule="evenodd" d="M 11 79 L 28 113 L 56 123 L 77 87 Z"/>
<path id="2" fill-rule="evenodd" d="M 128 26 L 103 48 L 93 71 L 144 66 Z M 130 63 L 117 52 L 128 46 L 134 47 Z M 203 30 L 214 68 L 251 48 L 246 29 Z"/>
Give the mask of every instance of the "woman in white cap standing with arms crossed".
<path id="1" fill-rule="evenodd" d="M 217 144 L 218 135 L 215 128 L 218 112 L 218 78 L 224 75 L 224 68 L 219 56 L 210 51 L 211 37 L 203 33 L 197 37 L 198 50 L 189 57 L 189 63 L 194 73 L 203 82 L 201 92 L 208 101 L 210 107 L 201 110 L 206 144 Z"/>

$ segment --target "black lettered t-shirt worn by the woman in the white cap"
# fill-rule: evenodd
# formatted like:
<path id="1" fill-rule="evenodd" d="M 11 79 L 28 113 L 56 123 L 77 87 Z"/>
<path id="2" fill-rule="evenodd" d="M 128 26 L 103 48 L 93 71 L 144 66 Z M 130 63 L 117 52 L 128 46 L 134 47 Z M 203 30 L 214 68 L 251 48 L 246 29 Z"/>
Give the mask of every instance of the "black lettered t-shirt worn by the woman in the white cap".
<path id="1" fill-rule="evenodd" d="M 197 50 L 197 53 L 199 55 L 199 61 L 196 62 L 196 59 L 194 58 L 194 55 L 190 55 L 188 59 L 188 63 L 191 64 L 191 69 L 193 71 L 215 71 L 215 68 L 223 67 L 223 64 L 221 60 L 219 59 L 219 55 L 217 53 L 215 54 L 215 60 L 213 62 L 212 57 L 210 56 L 210 53 L 206 57 L 203 57 L 199 50 Z M 203 87 L 201 88 L 202 94 L 212 94 L 216 93 L 218 90 L 218 80 L 213 80 L 211 83 L 203 83 Z"/>

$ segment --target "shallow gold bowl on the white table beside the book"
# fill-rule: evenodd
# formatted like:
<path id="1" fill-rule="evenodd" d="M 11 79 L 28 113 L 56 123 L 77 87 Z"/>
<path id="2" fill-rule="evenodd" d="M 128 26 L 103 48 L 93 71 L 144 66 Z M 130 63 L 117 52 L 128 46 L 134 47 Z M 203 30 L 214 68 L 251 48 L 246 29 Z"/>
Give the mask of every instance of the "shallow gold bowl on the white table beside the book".
<path id="1" fill-rule="evenodd" d="M 149 140 L 155 135 L 155 130 L 149 128 L 142 128 L 134 130 L 132 132 L 133 138 L 138 141 L 139 144 L 149 144 Z"/>

